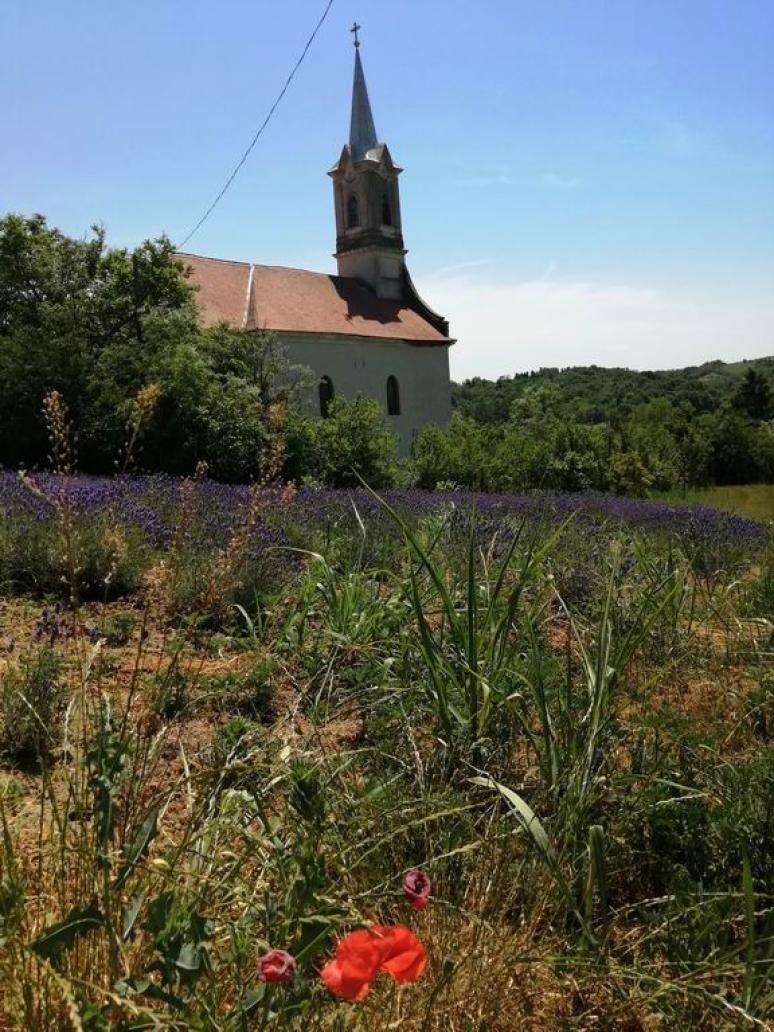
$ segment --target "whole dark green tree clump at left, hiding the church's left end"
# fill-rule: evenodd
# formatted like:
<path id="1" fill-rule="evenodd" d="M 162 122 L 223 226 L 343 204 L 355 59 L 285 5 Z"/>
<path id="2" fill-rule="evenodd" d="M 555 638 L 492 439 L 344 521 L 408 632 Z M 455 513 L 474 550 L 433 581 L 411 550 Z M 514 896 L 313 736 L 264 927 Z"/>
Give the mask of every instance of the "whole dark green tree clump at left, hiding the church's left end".
<path id="1" fill-rule="evenodd" d="M 277 474 L 304 382 L 271 334 L 199 328 L 167 239 L 110 250 L 98 227 L 76 240 L 41 216 L 0 220 L 0 464 L 45 462 L 42 401 L 58 390 L 85 472 L 115 469 L 128 421 L 146 469 Z"/>

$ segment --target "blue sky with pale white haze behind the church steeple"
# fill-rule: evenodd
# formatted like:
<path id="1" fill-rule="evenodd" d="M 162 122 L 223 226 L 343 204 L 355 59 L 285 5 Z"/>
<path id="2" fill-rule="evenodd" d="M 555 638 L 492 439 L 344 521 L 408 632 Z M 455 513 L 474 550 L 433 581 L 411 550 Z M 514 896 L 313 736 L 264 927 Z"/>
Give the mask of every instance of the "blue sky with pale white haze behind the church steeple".
<path id="1" fill-rule="evenodd" d="M 323 0 L 3 0 L 0 211 L 197 221 Z M 452 373 L 774 354 L 772 0 L 334 0 L 189 250 L 333 270 L 348 32 Z"/>

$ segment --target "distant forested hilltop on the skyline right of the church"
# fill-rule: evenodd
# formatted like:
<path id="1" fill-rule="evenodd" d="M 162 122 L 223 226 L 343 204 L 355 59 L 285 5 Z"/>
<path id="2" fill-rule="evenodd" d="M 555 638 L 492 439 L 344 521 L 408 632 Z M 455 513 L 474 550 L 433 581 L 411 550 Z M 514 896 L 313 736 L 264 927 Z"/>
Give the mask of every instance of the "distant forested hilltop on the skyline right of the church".
<path id="1" fill-rule="evenodd" d="M 579 365 L 517 373 L 498 380 L 475 377 L 452 385 L 452 401 L 458 412 L 480 423 L 501 423 L 510 418 L 514 401 L 527 391 L 547 388 L 545 393 L 550 396 L 555 415 L 579 423 L 616 425 L 638 406 L 658 398 L 686 414 L 713 412 L 732 399 L 749 369 L 763 374 L 774 389 L 773 356 L 743 362 L 705 362 L 658 373 Z"/>

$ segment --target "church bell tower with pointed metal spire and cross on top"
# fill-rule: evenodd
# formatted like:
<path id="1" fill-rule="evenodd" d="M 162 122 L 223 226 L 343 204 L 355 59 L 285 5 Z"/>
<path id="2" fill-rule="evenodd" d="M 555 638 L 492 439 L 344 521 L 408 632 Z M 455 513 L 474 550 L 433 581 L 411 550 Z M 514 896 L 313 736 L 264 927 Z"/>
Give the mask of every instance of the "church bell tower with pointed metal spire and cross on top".
<path id="1" fill-rule="evenodd" d="M 360 40 L 355 24 L 355 76 L 352 86 L 350 139 L 328 174 L 333 180 L 338 275 L 367 284 L 378 297 L 400 300 L 405 295 L 406 249 L 400 225 L 397 178 L 386 143 L 374 125 Z"/>

